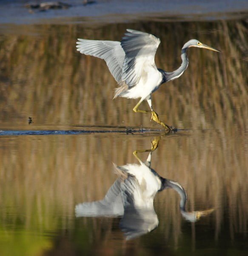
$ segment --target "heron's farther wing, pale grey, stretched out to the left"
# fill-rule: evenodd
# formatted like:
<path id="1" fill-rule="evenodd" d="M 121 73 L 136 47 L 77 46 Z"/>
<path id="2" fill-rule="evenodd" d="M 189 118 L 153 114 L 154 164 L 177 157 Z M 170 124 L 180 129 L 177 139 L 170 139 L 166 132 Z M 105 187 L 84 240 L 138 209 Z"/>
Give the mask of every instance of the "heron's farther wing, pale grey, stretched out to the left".
<path id="1" fill-rule="evenodd" d="M 120 83 L 125 52 L 117 41 L 86 40 L 78 38 L 77 51 L 104 59 L 114 79 Z"/>

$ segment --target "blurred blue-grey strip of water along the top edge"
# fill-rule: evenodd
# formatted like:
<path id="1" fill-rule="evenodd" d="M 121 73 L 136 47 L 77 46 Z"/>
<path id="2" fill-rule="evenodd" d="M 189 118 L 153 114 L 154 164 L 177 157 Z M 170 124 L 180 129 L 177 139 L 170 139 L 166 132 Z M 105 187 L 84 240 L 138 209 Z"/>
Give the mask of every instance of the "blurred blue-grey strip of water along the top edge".
<path id="1" fill-rule="evenodd" d="M 46 1 L 37 1 L 46 2 Z M 150 1 L 131 0 L 99 0 L 88 1 L 84 5 L 81 0 L 63 1 L 71 5 L 68 9 L 51 9 L 38 11 L 25 8 L 26 3 L 35 1 L 2 0 L 0 3 L 1 24 L 68 24 L 80 23 L 96 26 L 106 23 L 122 23 L 137 20 L 192 21 L 240 19 L 247 17 L 246 0 L 197 1 Z"/>

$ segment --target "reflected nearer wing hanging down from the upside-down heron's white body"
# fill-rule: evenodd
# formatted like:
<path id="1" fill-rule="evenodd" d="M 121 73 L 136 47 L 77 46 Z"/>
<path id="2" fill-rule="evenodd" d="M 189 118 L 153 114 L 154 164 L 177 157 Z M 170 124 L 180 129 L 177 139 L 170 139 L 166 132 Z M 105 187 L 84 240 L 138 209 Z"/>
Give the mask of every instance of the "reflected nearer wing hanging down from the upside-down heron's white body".
<path id="1" fill-rule="evenodd" d="M 158 225 L 157 214 L 153 204 L 148 207 L 142 204 L 140 187 L 134 176 L 128 176 L 121 183 L 121 193 L 124 205 L 124 215 L 120 221 L 120 228 L 126 239 L 134 239 L 154 230 Z"/>

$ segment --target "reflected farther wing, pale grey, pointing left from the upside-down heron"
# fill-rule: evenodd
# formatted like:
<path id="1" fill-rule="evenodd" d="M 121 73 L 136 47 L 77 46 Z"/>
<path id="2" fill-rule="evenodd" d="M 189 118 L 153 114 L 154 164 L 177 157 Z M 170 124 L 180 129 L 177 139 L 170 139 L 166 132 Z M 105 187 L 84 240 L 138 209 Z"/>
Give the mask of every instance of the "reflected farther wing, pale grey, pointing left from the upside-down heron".
<path id="1" fill-rule="evenodd" d="M 122 216 L 123 213 L 119 179 L 108 189 L 103 200 L 77 204 L 75 207 L 76 217 Z"/>

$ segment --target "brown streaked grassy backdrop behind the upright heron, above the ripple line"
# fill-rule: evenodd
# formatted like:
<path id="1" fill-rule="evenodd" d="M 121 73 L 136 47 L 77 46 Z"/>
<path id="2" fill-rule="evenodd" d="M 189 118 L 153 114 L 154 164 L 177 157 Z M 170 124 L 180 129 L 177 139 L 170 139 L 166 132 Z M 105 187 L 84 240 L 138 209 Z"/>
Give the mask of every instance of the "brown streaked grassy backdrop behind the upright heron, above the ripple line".
<path id="1" fill-rule="evenodd" d="M 156 63 L 168 71 L 180 65 L 180 49 L 190 38 L 222 50 L 221 54 L 188 51 L 190 64 L 185 74 L 153 94 L 154 108 L 162 119 L 179 128 L 247 128 L 246 25 L 245 21 L 128 24 L 161 39 Z M 92 31 L 47 25 L 41 35 L 3 36 L 2 122 L 15 115 L 21 124 L 31 113 L 42 125 L 151 126 L 149 116 L 131 111 L 137 100 L 112 100 L 117 84 L 105 62 L 75 50 L 76 38 L 117 41 L 126 27 L 118 24 Z M 146 103 L 143 108 L 148 108 Z"/>

